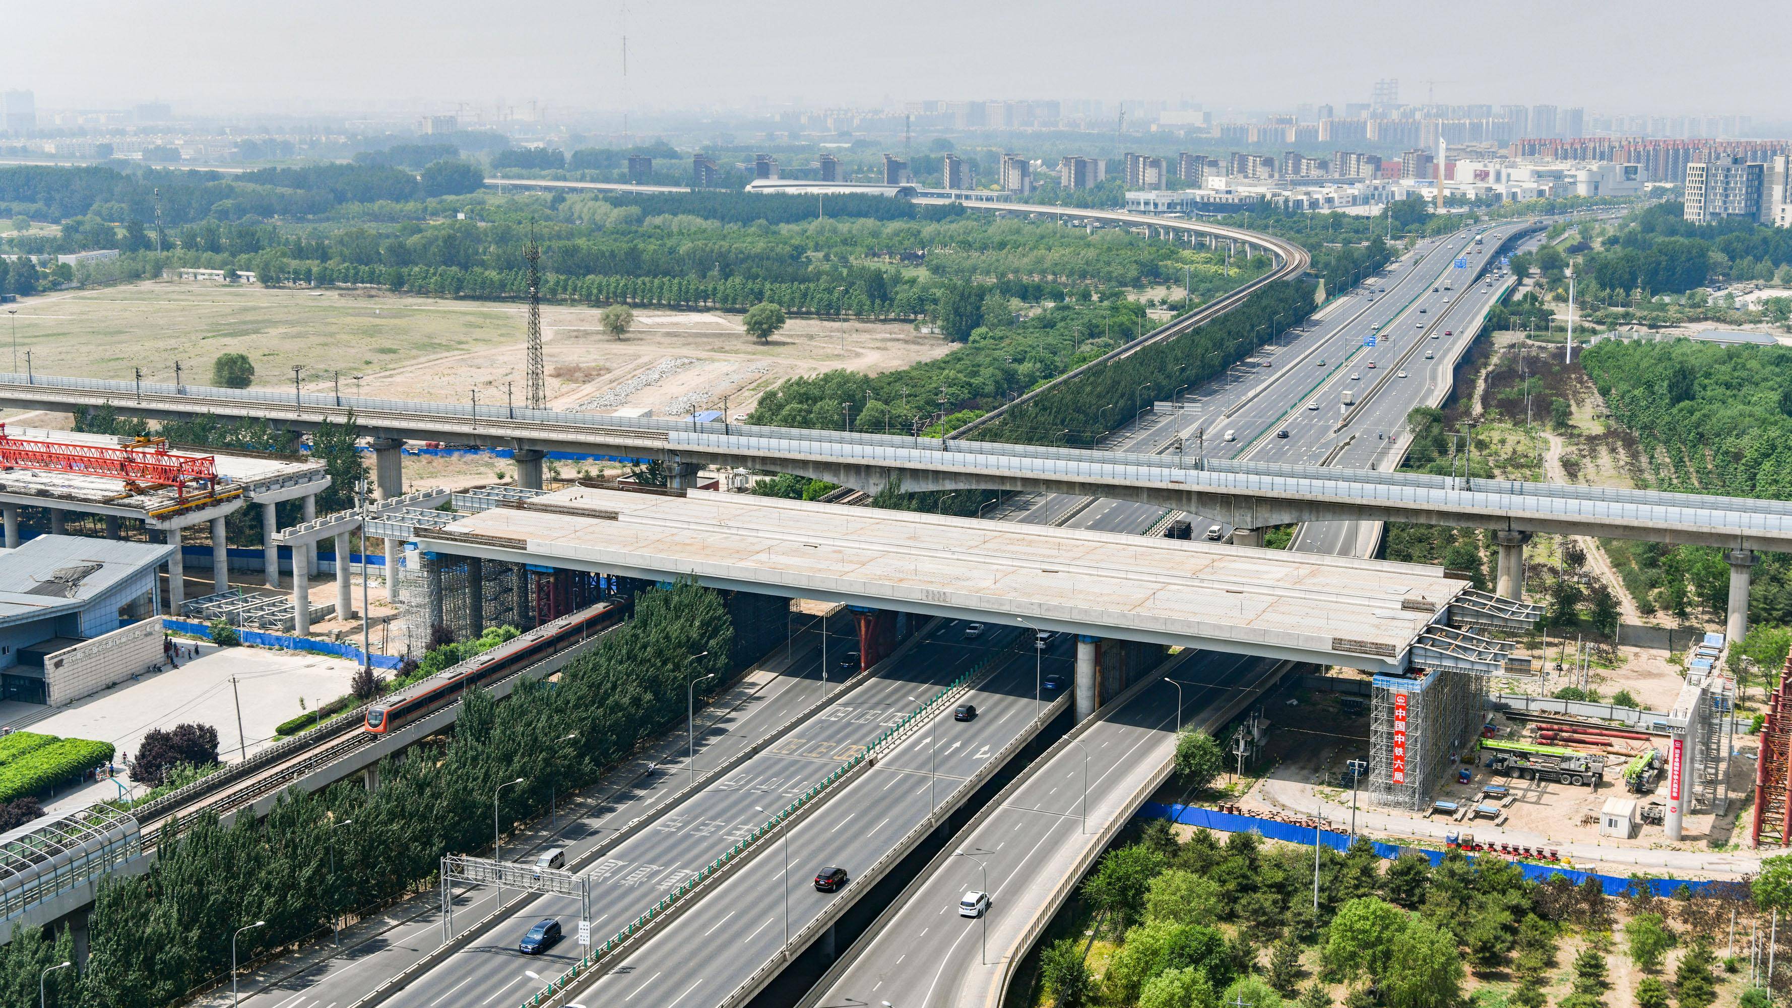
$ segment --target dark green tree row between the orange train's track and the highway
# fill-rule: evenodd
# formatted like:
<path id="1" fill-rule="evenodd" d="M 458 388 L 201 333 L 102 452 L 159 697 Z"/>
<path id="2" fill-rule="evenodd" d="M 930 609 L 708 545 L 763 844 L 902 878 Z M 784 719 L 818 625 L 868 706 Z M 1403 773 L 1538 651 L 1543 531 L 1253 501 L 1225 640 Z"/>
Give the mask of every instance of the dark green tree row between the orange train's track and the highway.
<path id="1" fill-rule="evenodd" d="M 713 592 L 647 590 L 634 619 L 566 665 L 557 685 L 520 683 L 504 703 L 470 694 L 453 737 L 383 764 L 380 789 L 344 782 L 289 793 L 262 821 L 244 816 L 226 829 L 201 818 L 183 836 L 163 836 L 149 873 L 100 890 L 86 972 L 52 974 L 50 1003 L 172 1004 L 228 970 L 231 933 L 246 924 L 267 922 L 242 936 L 240 954 L 251 958 L 326 929 L 335 915 L 426 888 L 443 854 L 491 841 L 498 782 L 527 780 L 504 789 L 505 823 L 538 814 L 554 789 L 590 784 L 685 716 L 685 669 L 728 671 L 717 658 L 686 656 L 728 655 L 731 639 Z M 11 994 L 29 976 L 34 1004 L 38 970 L 65 958 L 66 940 L 14 931 L 0 949 L 0 1001 L 25 1004 Z"/>

